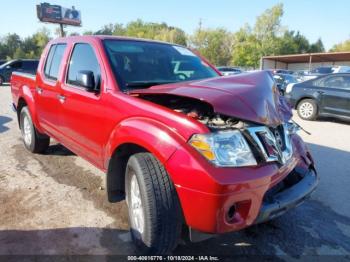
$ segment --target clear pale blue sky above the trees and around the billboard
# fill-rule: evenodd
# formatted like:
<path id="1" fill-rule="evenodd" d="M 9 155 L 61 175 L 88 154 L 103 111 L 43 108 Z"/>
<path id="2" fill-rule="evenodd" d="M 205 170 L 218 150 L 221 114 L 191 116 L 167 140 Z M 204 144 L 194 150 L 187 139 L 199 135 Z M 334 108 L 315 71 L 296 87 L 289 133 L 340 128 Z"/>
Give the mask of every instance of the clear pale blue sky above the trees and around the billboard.
<path id="1" fill-rule="evenodd" d="M 267 8 L 283 3 L 282 25 L 300 31 L 310 42 L 321 38 L 325 48 L 350 38 L 349 0 L 3 0 L 0 4 L 0 36 L 17 33 L 21 37 L 46 26 L 36 17 L 35 5 L 49 2 L 63 7 L 75 6 L 82 13 L 82 27 L 68 32 L 96 31 L 109 23 L 126 24 L 137 18 L 146 22 L 166 22 L 192 33 L 202 21 L 203 27 L 223 27 L 237 31 L 245 23 L 253 25 Z"/>

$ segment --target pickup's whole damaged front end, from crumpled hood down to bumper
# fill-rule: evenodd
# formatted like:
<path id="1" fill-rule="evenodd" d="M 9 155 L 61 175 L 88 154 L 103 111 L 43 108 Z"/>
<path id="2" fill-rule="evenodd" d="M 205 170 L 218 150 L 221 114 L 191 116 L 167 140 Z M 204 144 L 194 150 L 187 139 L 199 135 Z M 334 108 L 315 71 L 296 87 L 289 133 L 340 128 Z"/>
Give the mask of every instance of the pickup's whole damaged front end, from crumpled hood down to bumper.
<path id="1" fill-rule="evenodd" d="M 132 91 L 207 127 L 188 136 L 184 148 L 190 150 L 177 150 L 166 166 L 181 185 L 192 241 L 210 236 L 202 232 L 231 232 L 275 218 L 315 190 L 312 159 L 275 88 L 268 73 L 257 72 Z M 194 182 L 200 179 L 208 184 Z M 192 199 L 201 201 L 194 205 Z"/>

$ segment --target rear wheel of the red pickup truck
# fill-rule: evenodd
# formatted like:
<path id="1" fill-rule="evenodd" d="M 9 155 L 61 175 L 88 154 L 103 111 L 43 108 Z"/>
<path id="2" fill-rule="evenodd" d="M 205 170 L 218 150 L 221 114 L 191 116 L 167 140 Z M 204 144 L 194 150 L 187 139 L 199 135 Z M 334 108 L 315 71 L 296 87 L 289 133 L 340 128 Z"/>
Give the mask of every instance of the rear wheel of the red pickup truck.
<path id="1" fill-rule="evenodd" d="M 26 120 L 25 120 L 26 119 Z M 50 145 L 50 137 L 44 134 L 40 134 L 36 128 L 34 127 L 32 117 L 30 116 L 28 107 L 23 107 L 20 113 L 20 128 L 23 138 L 24 146 L 27 150 L 32 153 L 42 153 L 44 152 Z M 25 121 L 28 121 L 27 131 L 25 131 Z M 25 132 L 30 132 L 30 139 L 25 138 Z"/>

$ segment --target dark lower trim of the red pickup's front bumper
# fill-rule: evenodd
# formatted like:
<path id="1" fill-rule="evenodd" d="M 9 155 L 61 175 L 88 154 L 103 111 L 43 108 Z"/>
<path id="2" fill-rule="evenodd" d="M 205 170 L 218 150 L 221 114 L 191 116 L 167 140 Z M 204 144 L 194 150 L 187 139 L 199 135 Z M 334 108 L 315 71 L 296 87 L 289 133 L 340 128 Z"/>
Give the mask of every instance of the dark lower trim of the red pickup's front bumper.
<path id="1" fill-rule="evenodd" d="M 289 209 L 302 204 L 316 189 L 318 177 L 314 170 L 310 169 L 305 176 L 294 186 L 276 194 L 273 203 L 263 203 L 255 224 L 259 224 L 276 218 Z"/>

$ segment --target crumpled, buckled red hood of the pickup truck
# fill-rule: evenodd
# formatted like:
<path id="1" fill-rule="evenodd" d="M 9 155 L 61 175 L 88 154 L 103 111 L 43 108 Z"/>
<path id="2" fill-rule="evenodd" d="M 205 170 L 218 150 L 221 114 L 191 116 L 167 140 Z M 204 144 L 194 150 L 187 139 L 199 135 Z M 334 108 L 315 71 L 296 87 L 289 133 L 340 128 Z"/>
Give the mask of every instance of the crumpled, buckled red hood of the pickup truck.
<path id="1" fill-rule="evenodd" d="M 267 126 L 280 125 L 292 117 L 290 106 L 279 96 L 267 71 L 158 85 L 131 93 L 196 98 L 211 104 L 216 113 Z"/>

